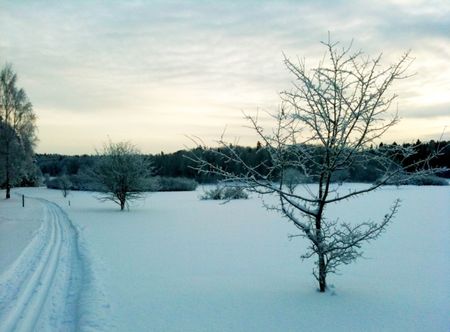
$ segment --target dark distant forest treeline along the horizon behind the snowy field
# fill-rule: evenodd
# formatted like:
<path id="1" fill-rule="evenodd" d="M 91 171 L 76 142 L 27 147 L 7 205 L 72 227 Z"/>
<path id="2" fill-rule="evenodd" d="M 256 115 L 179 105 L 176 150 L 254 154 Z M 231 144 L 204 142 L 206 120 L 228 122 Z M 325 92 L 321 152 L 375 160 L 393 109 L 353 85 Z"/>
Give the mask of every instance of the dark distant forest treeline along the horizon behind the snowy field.
<path id="1" fill-rule="evenodd" d="M 386 145 L 381 143 L 377 147 L 373 147 L 372 150 L 386 149 L 397 145 L 396 143 Z M 403 146 L 411 146 L 409 144 L 403 144 Z M 408 166 L 417 160 L 425 159 L 430 153 L 436 151 L 439 148 L 444 147 L 442 153 L 434 158 L 430 166 L 433 167 L 447 167 L 450 168 L 450 141 L 429 141 L 427 143 L 421 143 L 417 141 L 414 144 L 415 155 L 404 161 L 403 166 Z M 246 162 L 247 165 L 259 167 L 261 174 L 265 174 L 265 165 L 270 165 L 270 154 L 268 151 L 257 144 L 256 147 L 234 147 L 236 153 L 240 158 Z M 163 153 L 155 155 L 146 155 L 153 165 L 153 171 L 155 176 L 160 177 L 183 177 L 194 179 L 199 183 L 215 182 L 218 178 L 210 174 L 199 174 L 195 169 L 195 163 L 189 159 L 189 156 L 195 153 L 202 156 L 205 160 L 220 165 L 229 171 L 234 173 L 242 173 L 243 170 L 239 169 L 239 165 L 228 163 L 225 158 L 221 158 L 210 151 L 208 148 L 196 148 L 194 150 L 180 150 L 175 153 Z M 320 157 L 320 150 L 317 150 L 317 155 Z M 59 154 L 37 154 L 36 161 L 43 175 L 48 177 L 55 177 L 61 175 L 76 175 L 83 174 L 84 171 L 93 167 L 96 159 L 99 158 L 96 155 L 80 155 L 80 156 L 65 156 Z M 355 163 L 343 174 L 338 174 L 336 181 L 354 181 L 354 182 L 373 182 L 380 176 L 376 165 L 370 163 L 361 164 Z M 441 177 L 450 178 L 450 171 L 438 174 Z M 314 179 L 312 179 L 314 180 Z"/>

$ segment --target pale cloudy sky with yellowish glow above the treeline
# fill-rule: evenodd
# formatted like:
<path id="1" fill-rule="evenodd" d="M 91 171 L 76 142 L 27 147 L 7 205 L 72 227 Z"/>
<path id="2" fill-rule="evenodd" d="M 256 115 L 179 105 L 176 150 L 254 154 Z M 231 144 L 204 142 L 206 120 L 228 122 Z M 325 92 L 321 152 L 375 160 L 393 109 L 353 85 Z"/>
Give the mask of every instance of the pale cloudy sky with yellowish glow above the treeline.
<path id="1" fill-rule="evenodd" d="M 0 0 L 0 63 L 33 102 L 38 152 L 92 153 L 108 139 L 172 152 L 225 127 L 255 145 L 242 112 L 275 110 L 291 84 L 282 53 L 313 66 L 328 31 L 386 64 L 412 51 L 385 141 L 439 139 L 446 126 L 449 139 L 447 0 Z"/>

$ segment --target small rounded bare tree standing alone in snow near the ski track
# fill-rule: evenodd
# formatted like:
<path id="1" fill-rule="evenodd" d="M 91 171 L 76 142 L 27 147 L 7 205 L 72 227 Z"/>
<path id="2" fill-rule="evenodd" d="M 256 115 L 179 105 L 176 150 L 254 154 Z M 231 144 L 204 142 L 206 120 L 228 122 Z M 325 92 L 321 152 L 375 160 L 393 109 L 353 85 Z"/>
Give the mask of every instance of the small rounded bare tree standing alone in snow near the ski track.
<path id="1" fill-rule="evenodd" d="M 129 142 L 105 144 L 91 177 L 103 192 L 100 200 L 110 200 L 120 206 L 142 197 L 148 187 L 152 167 L 139 150 Z"/>

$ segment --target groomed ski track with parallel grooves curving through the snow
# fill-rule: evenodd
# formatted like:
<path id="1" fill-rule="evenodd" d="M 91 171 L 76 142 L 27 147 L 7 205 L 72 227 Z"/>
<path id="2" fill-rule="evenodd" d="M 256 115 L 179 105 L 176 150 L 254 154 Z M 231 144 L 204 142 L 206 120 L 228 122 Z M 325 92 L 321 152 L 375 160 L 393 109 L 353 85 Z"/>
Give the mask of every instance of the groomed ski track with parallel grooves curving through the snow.
<path id="1" fill-rule="evenodd" d="M 49 201 L 37 234 L 0 277 L 0 331 L 77 329 L 81 262 L 77 232 Z"/>

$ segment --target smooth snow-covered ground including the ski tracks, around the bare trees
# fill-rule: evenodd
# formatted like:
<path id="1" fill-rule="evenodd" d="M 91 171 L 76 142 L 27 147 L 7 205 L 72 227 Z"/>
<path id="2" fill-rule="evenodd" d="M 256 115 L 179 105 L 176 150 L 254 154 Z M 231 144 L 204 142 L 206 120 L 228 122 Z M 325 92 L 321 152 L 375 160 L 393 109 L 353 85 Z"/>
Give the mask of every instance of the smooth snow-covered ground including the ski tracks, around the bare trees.
<path id="1" fill-rule="evenodd" d="M 306 242 L 289 241 L 294 226 L 257 197 L 153 193 L 120 212 L 92 193 L 72 192 L 69 206 L 59 191 L 14 192 L 43 200 L 0 201 L 1 331 L 450 330 L 449 187 L 386 187 L 332 207 L 376 219 L 402 199 L 327 294 L 299 258 Z"/>

